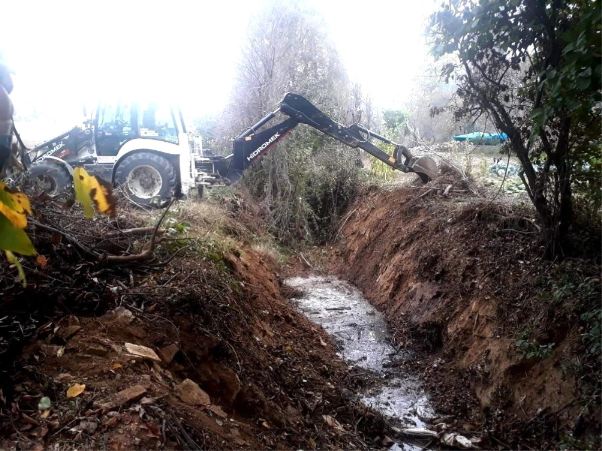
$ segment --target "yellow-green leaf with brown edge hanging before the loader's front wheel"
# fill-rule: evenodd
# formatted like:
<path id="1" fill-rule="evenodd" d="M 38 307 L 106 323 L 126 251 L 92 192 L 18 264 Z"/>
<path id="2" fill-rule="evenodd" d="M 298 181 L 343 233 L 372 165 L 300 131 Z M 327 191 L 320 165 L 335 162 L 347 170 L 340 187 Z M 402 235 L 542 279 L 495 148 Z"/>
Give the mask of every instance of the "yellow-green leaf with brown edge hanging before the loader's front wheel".
<path id="1" fill-rule="evenodd" d="M 117 202 L 111 191 L 111 184 L 96 176 L 90 176 L 84 168 L 77 167 L 73 171 L 73 186 L 75 198 L 84 207 L 84 216 L 88 219 L 94 217 L 96 207 L 99 213 L 114 216 Z"/>

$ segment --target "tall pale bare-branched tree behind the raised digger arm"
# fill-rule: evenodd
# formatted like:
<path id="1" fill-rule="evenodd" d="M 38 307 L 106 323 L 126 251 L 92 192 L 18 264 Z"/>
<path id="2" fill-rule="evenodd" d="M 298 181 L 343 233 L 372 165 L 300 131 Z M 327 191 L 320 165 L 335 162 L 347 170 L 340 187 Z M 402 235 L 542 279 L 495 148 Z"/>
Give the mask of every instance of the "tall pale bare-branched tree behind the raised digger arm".
<path id="1" fill-rule="evenodd" d="M 231 99 L 216 134 L 234 137 L 275 109 L 287 92 L 308 97 L 342 122 L 361 120 L 365 96 L 359 85 L 351 84 L 325 30 L 323 19 L 297 0 L 270 2 L 253 17 Z M 308 127 L 297 127 L 243 177 L 243 183 L 270 211 L 270 225 L 282 238 L 308 238 L 312 215 L 337 215 L 341 207 L 344 195 L 337 195 L 334 203 L 326 202 L 332 207 L 328 211 L 311 204 L 310 199 L 320 197 L 310 195 L 311 189 L 339 186 L 335 181 L 330 185 L 308 181 L 310 174 L 323 173 L 317 168 L 327 162 L 318 158 L 323 153 L 356 155 Z M 340 164 L 347 160 L 352 164 L 349 158 L 340 158 Z"/>

